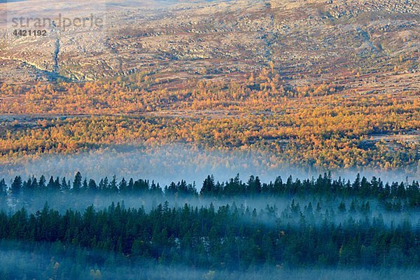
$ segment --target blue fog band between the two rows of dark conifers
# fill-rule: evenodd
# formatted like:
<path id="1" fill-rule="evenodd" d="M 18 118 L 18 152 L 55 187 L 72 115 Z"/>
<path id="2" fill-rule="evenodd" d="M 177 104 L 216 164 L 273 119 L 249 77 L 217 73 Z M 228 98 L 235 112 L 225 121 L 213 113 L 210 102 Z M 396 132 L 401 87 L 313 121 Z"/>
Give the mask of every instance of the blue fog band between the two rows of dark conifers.
<path id="1" fill-rule="evenodd" d="M 383 206 L 374 199 L 362 200 L 360 197 L 350 198 L 325 198 L 325 197 L 265 197 L 258 198 L 249 197 L 232 197 L 224 199 L 203 198 L 203 197 L 182 197 L 178 195 L 150 195 L 150 194 L 89 194 L 89 193 L 60 193 L 53 192 L 51 194 L 43 193 L 42 195 L 23 194 L 18 199 L 8 196 L 7 200 L 0 203 L 0 211 L 6 213 L 13 213 L 20 210 L 22 207 L 29 213 L 41 211 L 45 205 L 48 208 L 58 210 L 62 214 L 67 209 L 78 210 L 84 212 L 87 207 L 91 205 L 95 210 L 103 210 L 108 208 L 112 203 L 122 205 L 127 208 L 144 208 L 148 213 L 152 209 L 156 209 L 159 204 L 163 205 L 167 202 L 169 208 L 182 208 L 185 204 L 189 207 L 211 207 L 213 205 L 215 211 L 219 207 L 229 206 L 231 211 L 235 211 L 235 207 L 239 212 L 244 211 L 248 213 L 241 220 L 241 223 L 251 223 L 253 218 L 251 213 L 256 211 L 258 223 L 267 226 L 277 225 L 298 225 L 300 223 L 300 212 L 304 218 L 314 223 L 314 225 L 321 225 L 326 218 L 329 223 L 346 223 L 350 219 L 356 222 L 363 223 L 369 221 L 372 223 L 374 219 L 380 219 L 384 225 L 388 227 L 393 225 L 400 225 L 403 222 L 409 222 L 412 225 L 420 225 L 420 213 L 406 209 L 404 211 L 385 211 Z M 346 204 L 346 211 L 344 213 L 339 211 L 339 204 L 344 202 Z M 355 205 L 354 211 L 350 210 L 351 204 Z M 370 209 L 362 211 L 363 205 L 369 202 Z M 45 204 L 47 203 L 47 204 Z M 293 213 L 291 205 L 298 209 Z M 311 205 L 310 210 L 307 209 Z M 317 209 L 317 207 L 319 207 Z"/>

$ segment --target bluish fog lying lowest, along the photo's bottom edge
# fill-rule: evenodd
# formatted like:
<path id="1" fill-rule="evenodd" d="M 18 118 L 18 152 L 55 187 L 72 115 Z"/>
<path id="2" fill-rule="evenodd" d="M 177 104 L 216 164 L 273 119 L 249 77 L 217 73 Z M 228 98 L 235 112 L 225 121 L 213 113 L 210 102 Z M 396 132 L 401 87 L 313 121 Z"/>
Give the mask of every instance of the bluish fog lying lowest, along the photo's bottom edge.
<path id="1" fill-rule="evenodd" d="M 39 279 L 56 279 L 64 276 L 65 279 L 243 279 L 243 280 L 270 280 L 270 279 L 339 279 L 339 280 L 382 280 L 382 279 L 419 279 L 420 269 L 319 269 L 300 268 L 287 269 L 284 267 L 255 267 L 247 272 L 237 272 L 225 269 L 215 271 L 181 265 L 156 265 L 153 262 L 144 265 L 127 266 L 124 263 L 106 263 L 98 267 L 92 261 L 80 262 L 71 254 L 71 246 L 65 246 L 62 255 L 57 254 L 57 246 L 44 244 L 43 249 L 34 253 L 29 245 L 21 246 L 10 241 L 0 242 L 0 272 L 6 270 L 9 276 L 25 275 L 43 277 Z M 105 255 L 104 252 L 92 251 L 89 255 Z M 5 268 L 8 269 L 5 269 Z M 78 267 L 80 274 L 72 274 L 71 267 Z M 61 278 L 60 278 L 61 279 Z"/>

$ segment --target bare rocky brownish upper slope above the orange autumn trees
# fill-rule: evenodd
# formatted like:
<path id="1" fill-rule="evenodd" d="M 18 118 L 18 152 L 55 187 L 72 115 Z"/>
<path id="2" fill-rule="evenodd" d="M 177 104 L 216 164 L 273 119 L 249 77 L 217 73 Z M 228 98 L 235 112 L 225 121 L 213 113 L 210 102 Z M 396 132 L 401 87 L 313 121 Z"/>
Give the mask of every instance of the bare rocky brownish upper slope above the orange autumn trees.
<path id="1" fill-rule="evenodd" d="M 14 9 L 42 15 L 47 6 L 43 0 L 0 3 L 9 18 Z M 272 62 L 290 83 L 342 80 L 369 91 L 390 87 L 397 75 L 405 89 L 418 87 L 412 83 L 419 79 L 420 32 L 413 0 L 108 1 L 92 7 L 62 3 L 48 14 L 94 13 L 106 27 L 49 29 L 43 38 L 8 34 L 0 47 L 0 80 L 83 81 L 141 71 L 160 79 L 235 78 Z M 356 73 L 360 78 L 349 80 Z"/>

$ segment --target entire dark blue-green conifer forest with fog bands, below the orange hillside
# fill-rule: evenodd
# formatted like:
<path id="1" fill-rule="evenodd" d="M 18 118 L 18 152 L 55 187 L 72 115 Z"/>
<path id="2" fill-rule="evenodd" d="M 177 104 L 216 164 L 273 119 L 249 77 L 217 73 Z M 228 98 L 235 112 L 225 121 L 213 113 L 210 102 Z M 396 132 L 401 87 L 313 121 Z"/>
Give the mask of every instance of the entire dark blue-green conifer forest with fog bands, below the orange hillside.
<path id="1" fill-rule="evenodd" d="M 0 279 L 116 279 L 118 267 L 127 273 L 123 279 L 162 279 L 151 267 L 193 269 L 188 275 L 197 279 L 236 279 L 239 273 L 256 279 L 314 267 L 419 274 L 417 181 L 357 176 L 351 182 L 323 174 L 262 183 L 258 176 L 243 182 L 238 175 L 225 182 L 207 176 L 201 188 L 186 181 L 162 188 L 116 176 L 97 182 L 77 173 L 71 180 L 16 176 L 10 186 L 1 180 L 0 189 Z M 28 211 L 36 197 L 48 203 Z M 51 197 L 113 202 L 54 209 Z M 154 202 L 126 206 L 125 197 Z M 13 258 L 36 268 L 10 268 Z"/>

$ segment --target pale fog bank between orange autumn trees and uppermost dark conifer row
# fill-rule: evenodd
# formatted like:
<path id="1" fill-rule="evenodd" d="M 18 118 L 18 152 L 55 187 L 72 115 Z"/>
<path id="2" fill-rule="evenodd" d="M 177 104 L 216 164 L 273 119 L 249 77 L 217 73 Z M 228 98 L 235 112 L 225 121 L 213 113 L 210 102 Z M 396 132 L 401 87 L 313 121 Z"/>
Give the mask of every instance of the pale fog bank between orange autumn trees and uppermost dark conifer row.
<path id="1" fill-rule="evenodd" d="M 0 178 L 8 182 L 18 175 L 22 179 L 32 175 L 38 178 L 41 175 L 45 178 L 66 176 L 71 179 L 78 171 L 95 180 L 116 175 L 118 179 L 154 180 L 161 186 L 182 179 L 199 185 L 209 174 L 214 174 L 219 181 L 226 181 L 238 173 L 242 179 L 255 175 L 262 181 L 274 181 L 276 176 L 286 179 L 292 175 L 294 179 L 307 179 L 325 172 L 323 169 L 279 165 L 275 158 L 270 159 L 256 151 L 209 152 L 176 144 L 159 148 L 107 148 L 78 155 L 41 155 L 27 162 L 0 165 Z M 332 179 L 341 176 L 352 181 L 357 173 L 368 179 L 376 176 L 382 181 L 411 182 L 420 178 L 419 171 L 337 169 L 332 170 Z"/>

